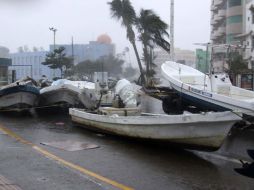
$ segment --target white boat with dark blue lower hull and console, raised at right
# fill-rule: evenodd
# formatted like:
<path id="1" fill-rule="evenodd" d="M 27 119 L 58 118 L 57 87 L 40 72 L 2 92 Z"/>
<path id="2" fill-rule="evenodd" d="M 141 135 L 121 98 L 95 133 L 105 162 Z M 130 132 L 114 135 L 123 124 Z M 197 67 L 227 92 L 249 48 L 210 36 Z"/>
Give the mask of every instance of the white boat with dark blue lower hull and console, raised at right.
<path id="1" fill-rule="evenodd" d="M 214 111 L 232 110 L 254 116 L 254 92 L 233 86 L 225 73 L 206 75 L 171 61 L 162 64 L 161 71 L 186 102 Z"/>

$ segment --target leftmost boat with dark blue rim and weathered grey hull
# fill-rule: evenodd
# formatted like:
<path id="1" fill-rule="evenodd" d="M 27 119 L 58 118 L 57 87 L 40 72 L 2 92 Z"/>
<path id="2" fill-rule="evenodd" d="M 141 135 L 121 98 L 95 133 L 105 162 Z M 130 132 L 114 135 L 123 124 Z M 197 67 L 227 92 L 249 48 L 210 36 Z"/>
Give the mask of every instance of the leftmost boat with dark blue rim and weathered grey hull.
<path id="1" fill-rule="evenodd" d="M 36 82 L 27 77 L 0 88 L 0 109 L 23 111 L 37 106 L 40 91 Z"/>

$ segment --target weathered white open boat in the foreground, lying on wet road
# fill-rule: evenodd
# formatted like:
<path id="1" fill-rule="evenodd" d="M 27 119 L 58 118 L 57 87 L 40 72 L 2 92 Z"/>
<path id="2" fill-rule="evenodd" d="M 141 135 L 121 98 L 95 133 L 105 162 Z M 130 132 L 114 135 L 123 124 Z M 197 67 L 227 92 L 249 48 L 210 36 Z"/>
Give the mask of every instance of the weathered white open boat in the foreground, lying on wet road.
<path id="1" fill-rule="evenodd" d="M 233 124 L 241 119 L 229 111 L 165 115 L 140 113 L 134 108 L 103 108 L 100 112 L 69 109 L 72 121 L 88 129 L 207 149 L 218 149 Z"/>

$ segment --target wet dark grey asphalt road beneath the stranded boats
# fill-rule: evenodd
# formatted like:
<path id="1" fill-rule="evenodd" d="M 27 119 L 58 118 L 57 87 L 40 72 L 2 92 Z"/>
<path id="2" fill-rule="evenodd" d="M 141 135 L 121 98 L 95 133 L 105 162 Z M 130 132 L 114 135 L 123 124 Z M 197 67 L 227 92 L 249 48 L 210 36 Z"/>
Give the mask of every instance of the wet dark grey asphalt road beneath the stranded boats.
<path id="1" fill-rule="evenodd" d="M 58 158 L 122 184 L 126 189 L 254 189 L 254 179 L 233 171 L 241 167 L 240 163 L 218 158 L 220 151 L 192 152 L 168 144 L 103 135 L 73 125 L 68 114 L 62 112 L 1 114 L 0 124 Z M 99 148 L 70 152 L 40 144 L 65 140 L 92 143 Z M 226 143 L 234 144 L 234 139 Z M 221 152 L 226 152 L 231 144 Z M 244 150 L 239 147 L 236 153 L 239 151 Z M 23 190 L 121 189 L 47 158 L 32 145 L 3 132 L 0 132 L 0 174 Z"/>

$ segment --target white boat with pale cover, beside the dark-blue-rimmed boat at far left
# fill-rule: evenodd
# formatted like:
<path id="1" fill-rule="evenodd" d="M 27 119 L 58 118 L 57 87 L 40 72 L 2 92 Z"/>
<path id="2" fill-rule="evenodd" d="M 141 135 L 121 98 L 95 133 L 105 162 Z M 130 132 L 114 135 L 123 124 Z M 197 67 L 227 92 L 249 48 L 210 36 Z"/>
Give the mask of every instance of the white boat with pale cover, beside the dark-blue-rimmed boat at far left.
<path id="1" fill-rule="evenodd" d="M 57 104 L 67 104 L 70 106 L 80 106 L 82 102 L 79 95 L 84 88 L 94 88 L 94 83 L 86 81 L 70 81 L 60 79 L 40 90 L 40 105 L 50 106 Z"/>

